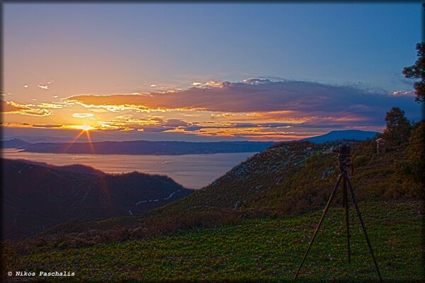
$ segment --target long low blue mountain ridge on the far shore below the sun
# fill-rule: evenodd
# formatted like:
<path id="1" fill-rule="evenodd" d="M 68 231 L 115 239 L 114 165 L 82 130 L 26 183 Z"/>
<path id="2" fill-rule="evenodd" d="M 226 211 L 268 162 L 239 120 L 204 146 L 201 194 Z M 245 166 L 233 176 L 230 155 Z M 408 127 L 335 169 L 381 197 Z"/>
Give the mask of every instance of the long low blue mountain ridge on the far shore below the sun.
<path id="1" fill-rule="evenodd" d="M 262 141 L 98 141 L 93 143 L 38 143 L 23 151 L 52 154 L 140 154 L 181 155 L 257 152 L 276 142 Z"/>

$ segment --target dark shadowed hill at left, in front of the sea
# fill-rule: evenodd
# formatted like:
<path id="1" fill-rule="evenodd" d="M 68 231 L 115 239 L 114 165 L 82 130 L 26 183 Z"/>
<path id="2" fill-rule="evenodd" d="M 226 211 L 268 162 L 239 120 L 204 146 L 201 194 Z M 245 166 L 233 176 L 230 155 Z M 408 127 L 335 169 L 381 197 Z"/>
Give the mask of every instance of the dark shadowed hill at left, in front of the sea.
<path id="1" fill-rule="evenodd" d="M 191 194 L 171 178 L 110 175 L 89 166 L 1 160 L 4 238 L 18 239 L 72 219 L 141 214 Z"/>

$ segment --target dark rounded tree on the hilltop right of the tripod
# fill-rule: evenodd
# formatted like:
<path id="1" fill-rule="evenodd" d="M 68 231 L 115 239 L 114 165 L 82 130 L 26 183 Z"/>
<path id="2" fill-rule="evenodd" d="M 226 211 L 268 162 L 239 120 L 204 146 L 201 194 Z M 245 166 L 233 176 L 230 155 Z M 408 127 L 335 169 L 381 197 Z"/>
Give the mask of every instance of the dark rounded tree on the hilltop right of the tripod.
<path id="1" fill-rule="evenodd" d="M 391 146 L 404 146 L 409 141 L 412 124 L 406 117 L 404 111 L 398 107 L 391 108 L 390 112 L 385 115 L 387 126 L 382 133 L 382 137 Z"/>

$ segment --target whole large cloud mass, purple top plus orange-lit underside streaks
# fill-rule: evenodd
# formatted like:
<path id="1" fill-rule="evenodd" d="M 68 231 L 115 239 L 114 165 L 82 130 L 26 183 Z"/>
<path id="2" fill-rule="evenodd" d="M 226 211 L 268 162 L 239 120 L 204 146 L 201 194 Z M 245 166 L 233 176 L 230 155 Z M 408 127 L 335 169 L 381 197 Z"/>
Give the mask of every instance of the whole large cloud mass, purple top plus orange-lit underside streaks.
<path id="1" fill-rule="evenodd" d="M 210 87 L 206 87 L 210 84 Z M 220 85 L 220 87 L 213 87 Z M 394 106 L 420 119 L 411 96 L 395 96 L 356 86 L 334 86 L 310 81 L 248 79 L 243 82 L 201 83 L 174 93 L 143 95 L 72 96 L 86 108 L 122 110 L 204 110 L 234 115 L 235 120 L 276 120 L 293 124 L 384 125 L 385 112 Z M 217 117 L 217 116 L 216 116 Z M 228 117 L 227 117 L 228 118 Z"/>

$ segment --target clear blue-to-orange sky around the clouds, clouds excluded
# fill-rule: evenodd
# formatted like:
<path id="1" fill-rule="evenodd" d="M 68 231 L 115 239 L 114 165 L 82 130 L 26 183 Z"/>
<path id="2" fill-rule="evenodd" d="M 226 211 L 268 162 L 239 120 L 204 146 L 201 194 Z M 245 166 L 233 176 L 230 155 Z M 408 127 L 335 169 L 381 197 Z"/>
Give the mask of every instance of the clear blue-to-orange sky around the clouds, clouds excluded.
<path id="1" fill-rule="evenodd" d="M 401 71 L 414 63 L 420 40 L 421 3 L 5 4 L 4 100 L 40 108 L 72 96 L 179 91 L 250 78 L 391 95 L 412 91 Z M 403 103 L 417 120 L 413 98 Z M 32 119 L 72 124 L 51 112 Z M 28 112 L 20 114 L 5 120 L 23 124 Z M 383 121 L 385 111 L 380 115 Z"/>

